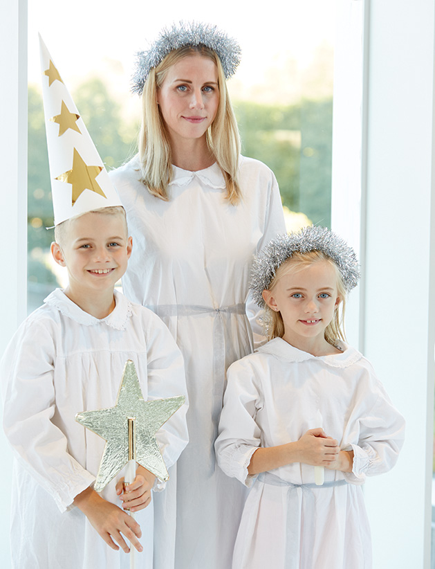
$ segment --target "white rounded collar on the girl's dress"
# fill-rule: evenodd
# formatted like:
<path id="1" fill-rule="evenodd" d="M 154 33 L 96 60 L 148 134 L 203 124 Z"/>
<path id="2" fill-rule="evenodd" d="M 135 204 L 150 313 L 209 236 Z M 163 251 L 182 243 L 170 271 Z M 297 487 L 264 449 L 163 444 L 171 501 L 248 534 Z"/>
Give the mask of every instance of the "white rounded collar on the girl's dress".
<path id="1" fill-rule="evenodd" d="M 299 361 L 324 361 L 333 368 L 347 368 L 356 361 L 362 358 L 362 354 L 355 350 L 355 348 L 348 346 L 344 342 L 338 342 L 342 352 L 340 354 L 331 354 L 329 356 L 313 356 L 308 352 L 298 350 L 282 338 L 273 338 L 270 342 L 262 345 L 257 349 L 257 352 L 264 354 L 271 354 L 277 356 L 279 359 L 285 359 L 292 362 Z"/>

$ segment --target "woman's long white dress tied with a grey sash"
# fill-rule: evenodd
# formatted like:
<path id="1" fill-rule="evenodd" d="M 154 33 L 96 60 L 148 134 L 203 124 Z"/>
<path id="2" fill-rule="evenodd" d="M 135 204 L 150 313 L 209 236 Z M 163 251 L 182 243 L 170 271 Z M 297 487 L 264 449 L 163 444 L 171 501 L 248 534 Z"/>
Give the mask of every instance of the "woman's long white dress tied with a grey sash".
<path id="1" fill-rule="evenodd" d="M 245 491 L 215 464 L 225 370 L 252 352 L 245 305 L 252 257 L 286 229 L 275 176 L 263 163 L 241 157 L 237 206 L 225 199 L 216 164 L 173 168 L 169 201 L 138 181 L 137 158 L 111 172 L 133 236 L 123 291 L 169 327 L 189 394 L 189 444 L 155 503 L 154 567 L 228 569 Z"/>

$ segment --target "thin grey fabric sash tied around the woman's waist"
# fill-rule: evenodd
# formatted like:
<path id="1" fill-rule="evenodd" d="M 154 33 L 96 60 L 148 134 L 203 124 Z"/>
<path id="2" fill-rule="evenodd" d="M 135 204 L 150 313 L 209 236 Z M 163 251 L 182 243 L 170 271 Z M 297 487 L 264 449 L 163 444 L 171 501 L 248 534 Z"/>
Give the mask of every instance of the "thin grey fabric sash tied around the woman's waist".
<path id="1" fill-rule="evenodd" d="M 208 307 L 201 305 L 154 305 L 147 308 L 152 310 L 160 318 L 170 318 L 177 316 L 200 316 L 201 314 L 210 314 L 214 316 L 213 323 L 213 402 L 212 402 L 212 424 L 213 424 L 213 442 L 216 440 L 218 431 L 219 416 L 222 410 L 223 391 L 225 387 L 225 323 L 224 316 L 229 314 L 239 314 L 246 316 L 245 302 L 239 302 L 237 305 L 224 307 Z M 210 470 L 215 467 L 214 444 L 210 449 Z"/>

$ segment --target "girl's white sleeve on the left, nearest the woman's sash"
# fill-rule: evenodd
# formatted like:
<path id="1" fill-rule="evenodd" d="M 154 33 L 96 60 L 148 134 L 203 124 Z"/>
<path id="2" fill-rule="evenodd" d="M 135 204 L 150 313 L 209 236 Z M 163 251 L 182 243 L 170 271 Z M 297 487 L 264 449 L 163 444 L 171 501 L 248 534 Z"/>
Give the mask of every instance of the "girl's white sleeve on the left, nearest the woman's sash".
<path id="1" fill-rule="evenodd" d="M 254 420 L 262 408 L 261 396 L 252 381 L 253 371 L 244 361 L 228 369 L 219 436 L 215 449 L 219 467 L 227 476 L 251 486 L 256 478 L 248 474 L 252 454 L 260 446 L 261 431 Z"/>

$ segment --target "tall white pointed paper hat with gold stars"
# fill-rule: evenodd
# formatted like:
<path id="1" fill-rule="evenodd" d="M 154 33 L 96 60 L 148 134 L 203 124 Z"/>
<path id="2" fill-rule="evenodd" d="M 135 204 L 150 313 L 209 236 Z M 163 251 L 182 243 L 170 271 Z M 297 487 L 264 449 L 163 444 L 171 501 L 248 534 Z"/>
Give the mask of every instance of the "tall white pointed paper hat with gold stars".
<path id="1" fill-rule="evenodd" d="M 55 225 L 91 210 L 122 206 L 41 36 L 39 47 Z"/>

